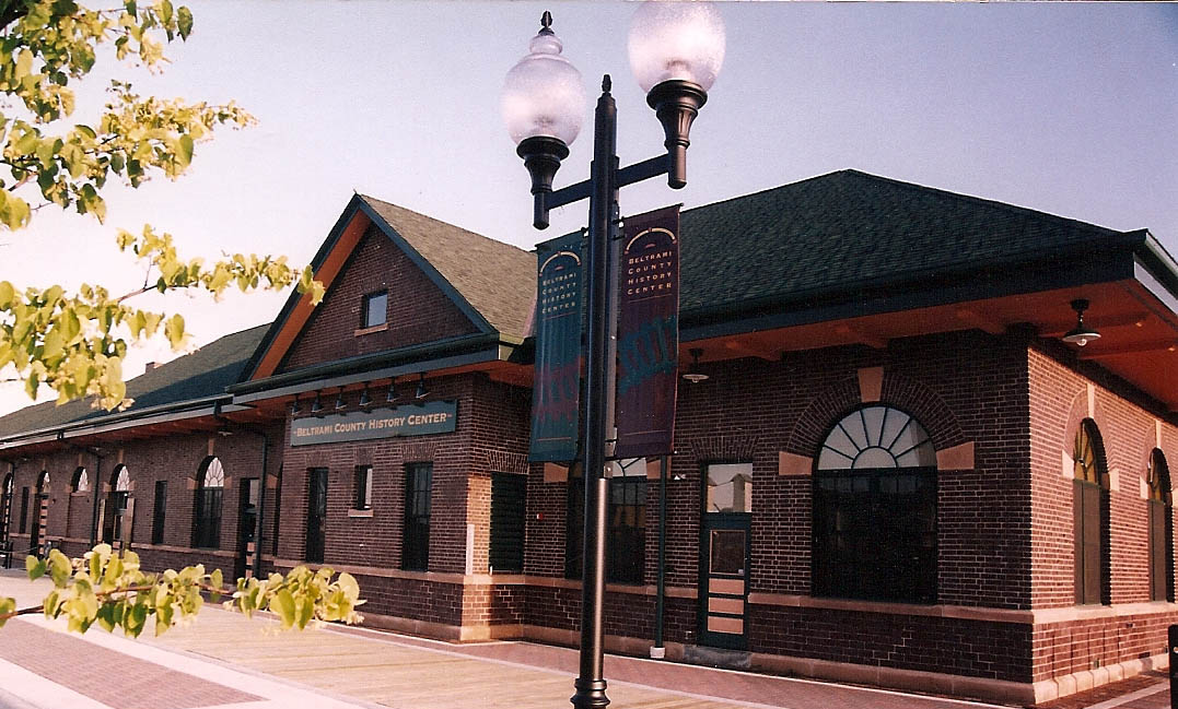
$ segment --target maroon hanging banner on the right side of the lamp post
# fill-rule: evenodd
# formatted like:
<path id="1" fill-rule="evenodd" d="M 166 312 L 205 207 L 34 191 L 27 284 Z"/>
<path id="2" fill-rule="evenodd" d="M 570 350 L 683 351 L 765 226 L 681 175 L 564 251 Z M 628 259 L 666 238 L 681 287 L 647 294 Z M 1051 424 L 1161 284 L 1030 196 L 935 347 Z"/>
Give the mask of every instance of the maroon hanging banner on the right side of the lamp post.
<path id="1" fill-rule="evenodd" d="M 679 206 L 626 218 L 614 457 L 669 455 L 679 377 Z"/>

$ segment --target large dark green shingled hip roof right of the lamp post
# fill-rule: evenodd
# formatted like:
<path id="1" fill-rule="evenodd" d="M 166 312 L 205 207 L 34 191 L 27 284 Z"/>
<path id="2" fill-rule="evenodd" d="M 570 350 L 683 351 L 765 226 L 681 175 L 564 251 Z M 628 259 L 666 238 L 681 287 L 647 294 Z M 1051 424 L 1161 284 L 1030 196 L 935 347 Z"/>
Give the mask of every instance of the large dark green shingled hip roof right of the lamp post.
<path id="1" fill-rule="evenodd" d="M 853 169 L 682 214 L 681 308 L 900 283 L 1141 241 Z"/>

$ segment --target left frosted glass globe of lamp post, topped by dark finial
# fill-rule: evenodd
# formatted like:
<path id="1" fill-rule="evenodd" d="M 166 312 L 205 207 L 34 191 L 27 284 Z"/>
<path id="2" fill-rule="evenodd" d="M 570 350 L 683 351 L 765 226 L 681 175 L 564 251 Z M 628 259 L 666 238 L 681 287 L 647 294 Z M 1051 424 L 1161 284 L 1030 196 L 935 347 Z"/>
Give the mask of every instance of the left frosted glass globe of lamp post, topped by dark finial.
<path id="1" fill-rule="evenodd" d="M 555 138 L 565 146 L 576 140 L 585 111 L 581 72 L 561 55 L 563 45 L 552 33 L 551 15 L 531 39 L 530 53 L 503 81 L 502 109 L 511 140 Z"/>

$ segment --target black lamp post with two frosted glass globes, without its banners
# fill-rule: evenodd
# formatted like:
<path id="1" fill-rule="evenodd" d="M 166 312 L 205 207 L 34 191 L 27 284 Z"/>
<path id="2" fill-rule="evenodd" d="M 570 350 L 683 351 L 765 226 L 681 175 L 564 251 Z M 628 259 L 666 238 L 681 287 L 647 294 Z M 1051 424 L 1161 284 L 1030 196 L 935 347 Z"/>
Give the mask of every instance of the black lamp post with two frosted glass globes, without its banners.
<path id="1" fill-rule="evenodd" d="M 627 185 L 667 175 L 675 189 L 687 185 L 687 147 L 691 121 L 708 100 L 723 61 L 723 21 L 715 7 L 703 2 L 647 2 L 634 15 L 629 34 L 630 66 L 647 102 L 655 109 L 667 135 L 667 153 L 618 168 L 617 108 L 610 79 L 594 114 L 594 158 L 589 179 L 552 190 L 552 178 L 568 156 L 568 143 L 581 129 L 584 89 L 581 74 L 563 56 L 552 32 L 552 15 L 541 19 L 531 53 L 508 73 L 503 88 L 503 115 L 516 151 L 531 174 L 532 225 L 548 227 L 555 207 L 589 198 L 589 253 L 585 259 L 588 362 L 582 402 L 581 454 L 584 459 L 585 528 L 582 571 L 581 664 L 571 702 L 577 709 L 609 704 L 603 675 L 602 631 L 605 591 L 605 402 L 609 381 L 608 343 L 615 313 L 610 310 L 610 242 L 616 239 L 620 210 L 617 190 Z"/>

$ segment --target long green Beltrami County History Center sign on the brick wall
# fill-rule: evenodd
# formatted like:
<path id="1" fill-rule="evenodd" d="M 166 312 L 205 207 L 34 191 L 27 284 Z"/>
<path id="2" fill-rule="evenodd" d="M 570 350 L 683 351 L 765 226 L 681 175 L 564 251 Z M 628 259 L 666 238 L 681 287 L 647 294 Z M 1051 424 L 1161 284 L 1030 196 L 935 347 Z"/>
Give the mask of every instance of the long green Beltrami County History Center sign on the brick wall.
<path id="1" fill-rule="evenodd" d="M 451 433 L 457 420 L 458 403 L 455 401 L 294 419 L 291 421 L 291 446 Z"/>

